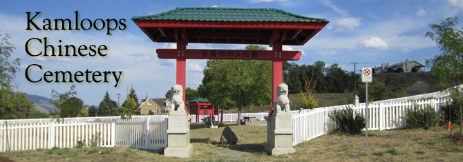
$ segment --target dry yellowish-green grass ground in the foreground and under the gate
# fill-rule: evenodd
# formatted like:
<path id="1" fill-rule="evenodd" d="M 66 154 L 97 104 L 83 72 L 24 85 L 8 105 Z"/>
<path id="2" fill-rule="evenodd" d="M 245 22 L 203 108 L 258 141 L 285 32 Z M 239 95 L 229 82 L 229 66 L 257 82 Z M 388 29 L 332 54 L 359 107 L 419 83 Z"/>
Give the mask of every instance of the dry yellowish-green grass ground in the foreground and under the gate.
<path id="1" fill-rule="evenodd" d="M 296 145 L 294 154 L 270 156 L 265 153 L 266 127 L 243 125 L 243 141 L 237 145 L 219 144 L 226 126 L 217 129 L 191 125 L 193 154 L 189 159 L 164 157 L 163 152 L 125 147 L 73 148 L 11 152 L 13 161 L 462 161 L 463 145 L 442 139 L 444 127 L 429 130 L 370 131 L 369 154 L 365 134 L 330 134 Z M 454 131 L 454 133 L 460 132 Z M 102 154 L 99 154 L 101 152 Z M 1 152 L 7 156 L 8 152 Z"/>

